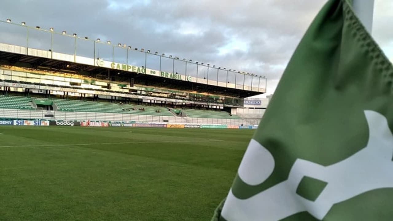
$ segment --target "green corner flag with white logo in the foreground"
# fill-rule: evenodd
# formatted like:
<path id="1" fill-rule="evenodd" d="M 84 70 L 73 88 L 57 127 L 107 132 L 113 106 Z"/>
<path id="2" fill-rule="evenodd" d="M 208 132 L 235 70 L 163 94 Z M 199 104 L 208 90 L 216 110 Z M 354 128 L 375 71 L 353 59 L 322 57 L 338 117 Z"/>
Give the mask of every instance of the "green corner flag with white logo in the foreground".
<path id="1" fill-rule="evenodd" d="M 329 0 L 212 220 L 393 220 L 392 81 L 351 1 Z"/>

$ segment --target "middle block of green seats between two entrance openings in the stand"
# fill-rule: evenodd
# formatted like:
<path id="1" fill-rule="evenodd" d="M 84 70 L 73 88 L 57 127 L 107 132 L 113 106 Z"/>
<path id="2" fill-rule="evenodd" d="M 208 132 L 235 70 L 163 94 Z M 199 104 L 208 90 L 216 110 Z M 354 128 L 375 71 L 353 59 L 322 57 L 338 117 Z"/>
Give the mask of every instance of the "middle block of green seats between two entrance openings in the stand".
<path id="1" fill-rule="evenodd" d="M 110 112 L 110 113 L 130 113 L 158 116 L 173 116 L 166 107 L 129 105 L 96 101 L 79 101 L 52 99 L 59 111 L 79 111 L 79 112 Z M 144 109 L 144 110 L 141 110 Z"/>

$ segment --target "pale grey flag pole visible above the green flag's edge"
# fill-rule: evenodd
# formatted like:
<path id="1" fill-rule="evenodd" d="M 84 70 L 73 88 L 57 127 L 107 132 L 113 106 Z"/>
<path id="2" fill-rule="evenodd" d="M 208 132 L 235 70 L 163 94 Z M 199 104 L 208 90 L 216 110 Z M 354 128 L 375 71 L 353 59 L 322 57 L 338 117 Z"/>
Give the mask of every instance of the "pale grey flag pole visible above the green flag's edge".
<path id="1" fill-rule="evenodd" d="M 352 0 L 353 10 L 371 34 L 373 29 L 374 0 Z"/>

